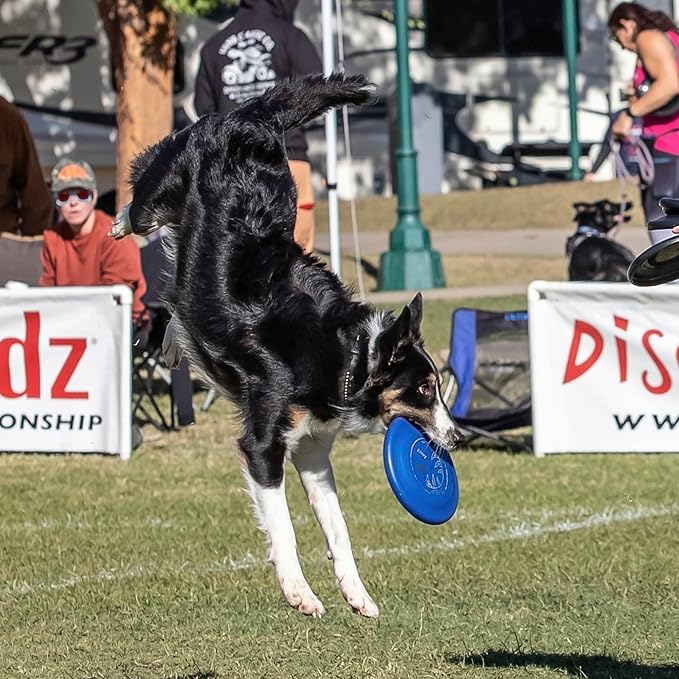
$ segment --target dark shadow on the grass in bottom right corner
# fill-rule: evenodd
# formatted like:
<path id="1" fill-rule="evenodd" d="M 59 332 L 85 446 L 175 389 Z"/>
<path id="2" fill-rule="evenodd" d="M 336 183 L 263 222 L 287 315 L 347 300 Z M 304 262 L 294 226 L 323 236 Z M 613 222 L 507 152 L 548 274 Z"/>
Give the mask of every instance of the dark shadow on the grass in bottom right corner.
<path id="1" fill-rule="evenodd" d="M 496 651 L 464 656 L 449 655 L 447 662 L 484 668 L 545 667 L 562 670 L 578 679 L 677 679 L 679 665 L 642 665 L 631 660 L 618 660 L 607 655 L 579 655 Z"/>

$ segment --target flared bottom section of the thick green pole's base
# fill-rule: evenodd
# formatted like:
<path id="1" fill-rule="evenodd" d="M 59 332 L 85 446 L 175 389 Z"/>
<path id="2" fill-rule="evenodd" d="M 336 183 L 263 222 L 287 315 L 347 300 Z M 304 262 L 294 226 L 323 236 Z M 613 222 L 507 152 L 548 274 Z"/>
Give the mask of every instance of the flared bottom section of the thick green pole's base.
<path id="1" fill-rule="evenodd" d="M 378 290 L 430 290 L 445 285 L 436 250 L 389 250 L 380 257 Z"/>

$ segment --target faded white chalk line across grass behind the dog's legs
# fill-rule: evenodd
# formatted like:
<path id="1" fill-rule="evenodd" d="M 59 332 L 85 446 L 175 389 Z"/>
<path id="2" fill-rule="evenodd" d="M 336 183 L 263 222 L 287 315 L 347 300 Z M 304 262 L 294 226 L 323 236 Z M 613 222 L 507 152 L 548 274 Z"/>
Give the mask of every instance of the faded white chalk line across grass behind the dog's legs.
<path id="1" fill-rule="evenodd" d="M 579 512 L 580 513 L 580 512 Z M 409 545 L 397 545 L 394 547 L 364 547 L 360 550 L 363 559 L 378 559 L 385 556 L 408 556 L 433 551 L 453 551 L 466 547 L 478 547 L 480 545 L 505 542 L 508 540 L 527 540 L 559 533 L 571 533 L 577 530 L 586 530 L 611 526 L 614 524 L 632 523 L 644 519 L 655 519 L 679 514 L 679 505 L 669 506 L 633 506 L 622 509 L 609 508 L 602 512 L 583 516 L 578 520 L 564 519 L 551 523 L 518 522 L 498 528 L 481 535 L 480 537 L 456 538 L 454 540 L 441 539 L 436 542 L 418 542 Z M 0 593 L 3 595 L 27 595 L 39 592 L 57 592 L 82 584 L 106 583 L 125 580 L 129 578 L 145 576 L 167 576 L 188 573 L 191 575 L 208 575 L 219 572 L 235 572 L 249 570 L 265 566 L 267 561 L 250 553 L 238 559 L 229 557 L 212 564 L 195 567 L 188 562 L 174 570 L 162 568 L 149 568 L 147 566 L 132 566 L 130 568 L 103 569 L 90 575 L 73 574 L 52 582 L 28 583 L 25 581 L 5 582 Z"/>

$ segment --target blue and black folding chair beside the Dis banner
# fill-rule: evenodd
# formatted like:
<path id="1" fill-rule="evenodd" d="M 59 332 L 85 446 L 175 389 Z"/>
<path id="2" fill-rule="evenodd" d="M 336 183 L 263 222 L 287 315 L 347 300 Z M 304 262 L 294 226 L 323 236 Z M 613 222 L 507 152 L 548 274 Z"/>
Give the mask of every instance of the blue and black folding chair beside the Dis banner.
<path id="1" fill-rule="evenodd" d="M 451 375 L 444 398 L 452 397 L 465 443 L 485 437 L 530 450 L 529 437 L 506 433 L 532 423 L 527 311 L 456 309 L 444 372 Z"/>

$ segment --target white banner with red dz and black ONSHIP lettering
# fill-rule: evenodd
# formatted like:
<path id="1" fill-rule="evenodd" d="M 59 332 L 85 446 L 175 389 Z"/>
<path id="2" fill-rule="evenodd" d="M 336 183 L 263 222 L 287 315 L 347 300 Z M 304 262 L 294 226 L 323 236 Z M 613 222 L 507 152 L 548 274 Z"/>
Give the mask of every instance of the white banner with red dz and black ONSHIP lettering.
<path id="1" fill-rule="evenodd" d="M 0 288 L 0 450 L 131 449 L 127 286 Z"/>

